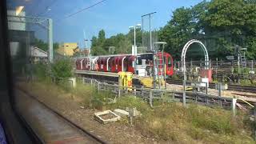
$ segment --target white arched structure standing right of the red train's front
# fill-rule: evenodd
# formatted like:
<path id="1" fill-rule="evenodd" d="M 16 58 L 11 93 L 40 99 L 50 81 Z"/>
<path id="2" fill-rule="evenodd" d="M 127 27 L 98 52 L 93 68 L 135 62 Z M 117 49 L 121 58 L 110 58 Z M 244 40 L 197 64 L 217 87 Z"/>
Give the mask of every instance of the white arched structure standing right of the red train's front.
<path id="1" fill-rule="evenodd" d="M 208 56 L 208 52 L 206 50 L 206 46 L 201 42 L 198 41 L 196 39 L 192 39 L 189 42 L 186 42 L 186 45 L 183 47 L 182 49 L 182 71 L 185 73 L 186 72 L 186 50 L 189 49 L 190 45 L 192 45 L 193 43 L 198 43 L 200 44 L 200 47 L 203 50 L 203 53 L 205 54 L 205 65 L 206 65 L 206 69 L 209 68 L 209 56 Z M 185 75 L 184 75 L 185 76 Z"/>

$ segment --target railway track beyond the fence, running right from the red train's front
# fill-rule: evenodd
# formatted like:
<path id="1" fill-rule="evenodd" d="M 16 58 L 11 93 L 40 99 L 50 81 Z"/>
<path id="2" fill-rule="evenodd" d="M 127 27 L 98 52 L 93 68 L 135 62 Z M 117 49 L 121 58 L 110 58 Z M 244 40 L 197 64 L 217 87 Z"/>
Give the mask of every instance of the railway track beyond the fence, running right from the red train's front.
<path id="1" fill-rule="evenodd" d="M 166 82 L 169 84 L 183 85 L 183 82 L 180 80 L 166 79 Z M 210 83 L 209 87 L 214 89 L 215 83 Z M 228 85 L 228 90 L 256 93 L 256 86 Z"/>

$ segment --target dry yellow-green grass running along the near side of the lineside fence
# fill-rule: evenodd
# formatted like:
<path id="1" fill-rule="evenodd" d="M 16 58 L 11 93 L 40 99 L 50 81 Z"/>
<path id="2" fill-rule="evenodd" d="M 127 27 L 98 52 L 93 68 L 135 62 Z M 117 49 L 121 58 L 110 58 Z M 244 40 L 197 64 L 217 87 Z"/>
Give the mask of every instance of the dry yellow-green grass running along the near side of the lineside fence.
<path id="1" fill-rule="evenodd" d="M 142 113 L 135 118 L 134 127 L 143 135 L 175 143 L 254 143 L 250 138 L 250 122 L 242 113 L 233 117 L 229 110 L 206 106 L 182 106 L 179 102 L 161 102 L 162 105 L 150 108 L 148 102 L 132 95 L 117 98 L 110 91 L 98 92 L 90 85 L 78 82 L 73 90 L 66 91 L 62 86 L 50 83 L 33 83 L 33 90 L 45 89 L 49 94 L 69 93 L 82 99 L 82 105 L 98 110 L 114 110 L 136 107 Z M 127 119 L 122 123 L 127 124 Z"/>

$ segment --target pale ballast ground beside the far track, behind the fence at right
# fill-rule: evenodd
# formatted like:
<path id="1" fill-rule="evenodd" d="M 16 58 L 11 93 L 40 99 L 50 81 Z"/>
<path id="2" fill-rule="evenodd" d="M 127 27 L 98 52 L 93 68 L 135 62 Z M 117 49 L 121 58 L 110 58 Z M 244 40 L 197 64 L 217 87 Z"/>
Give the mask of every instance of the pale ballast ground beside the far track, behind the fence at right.
<path id="1" fill-rule="evenodd" d="M 168 90 L 182 90 L 183 86 L 181 85 L 174 85 L 174 84 L 166 84 Z M 215 89 L 208 89 L 208 94 L 210 95 L 218 95 L 218 90 Z M 251 95 L 251 97 L 246 97 L 242 95 Z M 234 91 L 234 90 L 224 90 L 222 91 L 222 97 L 231 97 L 231 98 L 242 98 L 243 100 L 249 102 L 256 102 L 256 91 L 255 93 L 246 93 L 241 91 Z"/>

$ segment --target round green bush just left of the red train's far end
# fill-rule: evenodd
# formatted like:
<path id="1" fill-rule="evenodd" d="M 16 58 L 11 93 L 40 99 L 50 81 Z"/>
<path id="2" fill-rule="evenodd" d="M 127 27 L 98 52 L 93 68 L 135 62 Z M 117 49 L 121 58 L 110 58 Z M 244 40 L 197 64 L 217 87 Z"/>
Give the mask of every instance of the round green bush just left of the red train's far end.
<path id="1" fill-rule="evenodd" d="M 72 63 L 69 58 L 59 59 L 51 66 L 55 78 L 70 78 L 72 74 Z"/>

